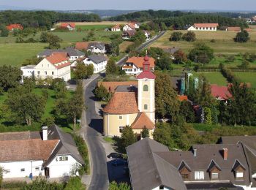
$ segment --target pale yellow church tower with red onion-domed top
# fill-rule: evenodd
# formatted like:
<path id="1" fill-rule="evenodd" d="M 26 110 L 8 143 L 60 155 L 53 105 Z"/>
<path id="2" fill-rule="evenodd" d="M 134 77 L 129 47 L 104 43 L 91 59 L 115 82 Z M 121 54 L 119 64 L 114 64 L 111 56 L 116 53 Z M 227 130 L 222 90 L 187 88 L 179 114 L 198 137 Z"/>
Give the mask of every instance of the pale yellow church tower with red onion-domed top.
<path id="1" fill-rule="evenodd" d="M 146 113 L 155 123 L 154 80 L 156 76 L 151 72 L 148 56 L 145 56 L 143 72 L 138 75 L 138 109 Z"/>

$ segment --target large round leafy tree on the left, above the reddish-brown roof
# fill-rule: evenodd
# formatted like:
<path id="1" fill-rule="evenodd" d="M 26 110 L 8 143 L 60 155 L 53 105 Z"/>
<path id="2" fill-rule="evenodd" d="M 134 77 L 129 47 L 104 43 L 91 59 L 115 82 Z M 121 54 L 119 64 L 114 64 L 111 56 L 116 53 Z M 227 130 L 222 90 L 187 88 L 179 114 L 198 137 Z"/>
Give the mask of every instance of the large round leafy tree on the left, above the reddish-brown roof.
<path id="1" fill-rule="evenodd" d="M 32 121 L 39 121 L 45 110 L 42 96 L 26 91 L 23 87 L 8 91 L 6 104 L 20 123 L 31 126 Z"/>

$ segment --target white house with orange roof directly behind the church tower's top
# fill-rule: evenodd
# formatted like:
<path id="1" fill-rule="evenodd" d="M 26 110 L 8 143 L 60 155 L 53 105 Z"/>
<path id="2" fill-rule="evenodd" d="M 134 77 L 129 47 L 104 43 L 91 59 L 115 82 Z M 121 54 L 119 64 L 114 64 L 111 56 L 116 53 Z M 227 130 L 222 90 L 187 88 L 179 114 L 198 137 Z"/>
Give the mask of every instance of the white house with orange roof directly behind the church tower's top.
<path id="1" fill-rule="evenodd" d="M 154 58 L 149 57 L 148 62 L 150 64 L 150 69 L 154 72 L 155 60 Z M 143 71 L 143 57 L 131 57 L 128 58 L 122 69 L 127 75 L 139 75 Z"/>

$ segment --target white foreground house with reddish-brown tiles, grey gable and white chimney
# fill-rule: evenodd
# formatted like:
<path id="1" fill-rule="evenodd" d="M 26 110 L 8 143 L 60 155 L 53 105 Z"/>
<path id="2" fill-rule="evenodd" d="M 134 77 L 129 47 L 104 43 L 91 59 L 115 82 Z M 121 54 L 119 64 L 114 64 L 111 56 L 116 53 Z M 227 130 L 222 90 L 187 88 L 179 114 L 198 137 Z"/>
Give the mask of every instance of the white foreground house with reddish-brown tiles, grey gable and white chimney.
<path id="1" fill-rule="evenodd" d="M 4 179 L 62 178 L 82 164 L 71 134 L 56 125 L 44 126 L 42 132 L 0 133 L 0 167 L 4 168 Z"/>

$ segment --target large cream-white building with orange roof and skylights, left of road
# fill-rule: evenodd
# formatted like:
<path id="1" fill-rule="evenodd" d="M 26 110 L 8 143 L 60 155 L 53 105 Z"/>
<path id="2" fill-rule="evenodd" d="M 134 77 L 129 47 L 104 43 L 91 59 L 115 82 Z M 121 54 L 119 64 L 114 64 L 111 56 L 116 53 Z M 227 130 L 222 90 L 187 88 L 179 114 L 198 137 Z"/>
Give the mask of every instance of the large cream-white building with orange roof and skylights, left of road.
<path id="1" fill-rule="evenodd" d="M 68 81 L 71 79 L 70 73 L 69 60 L 63 53 L 53 53 L 34 67 L 34 76 L 42 79 L 52 77 Z"/>

